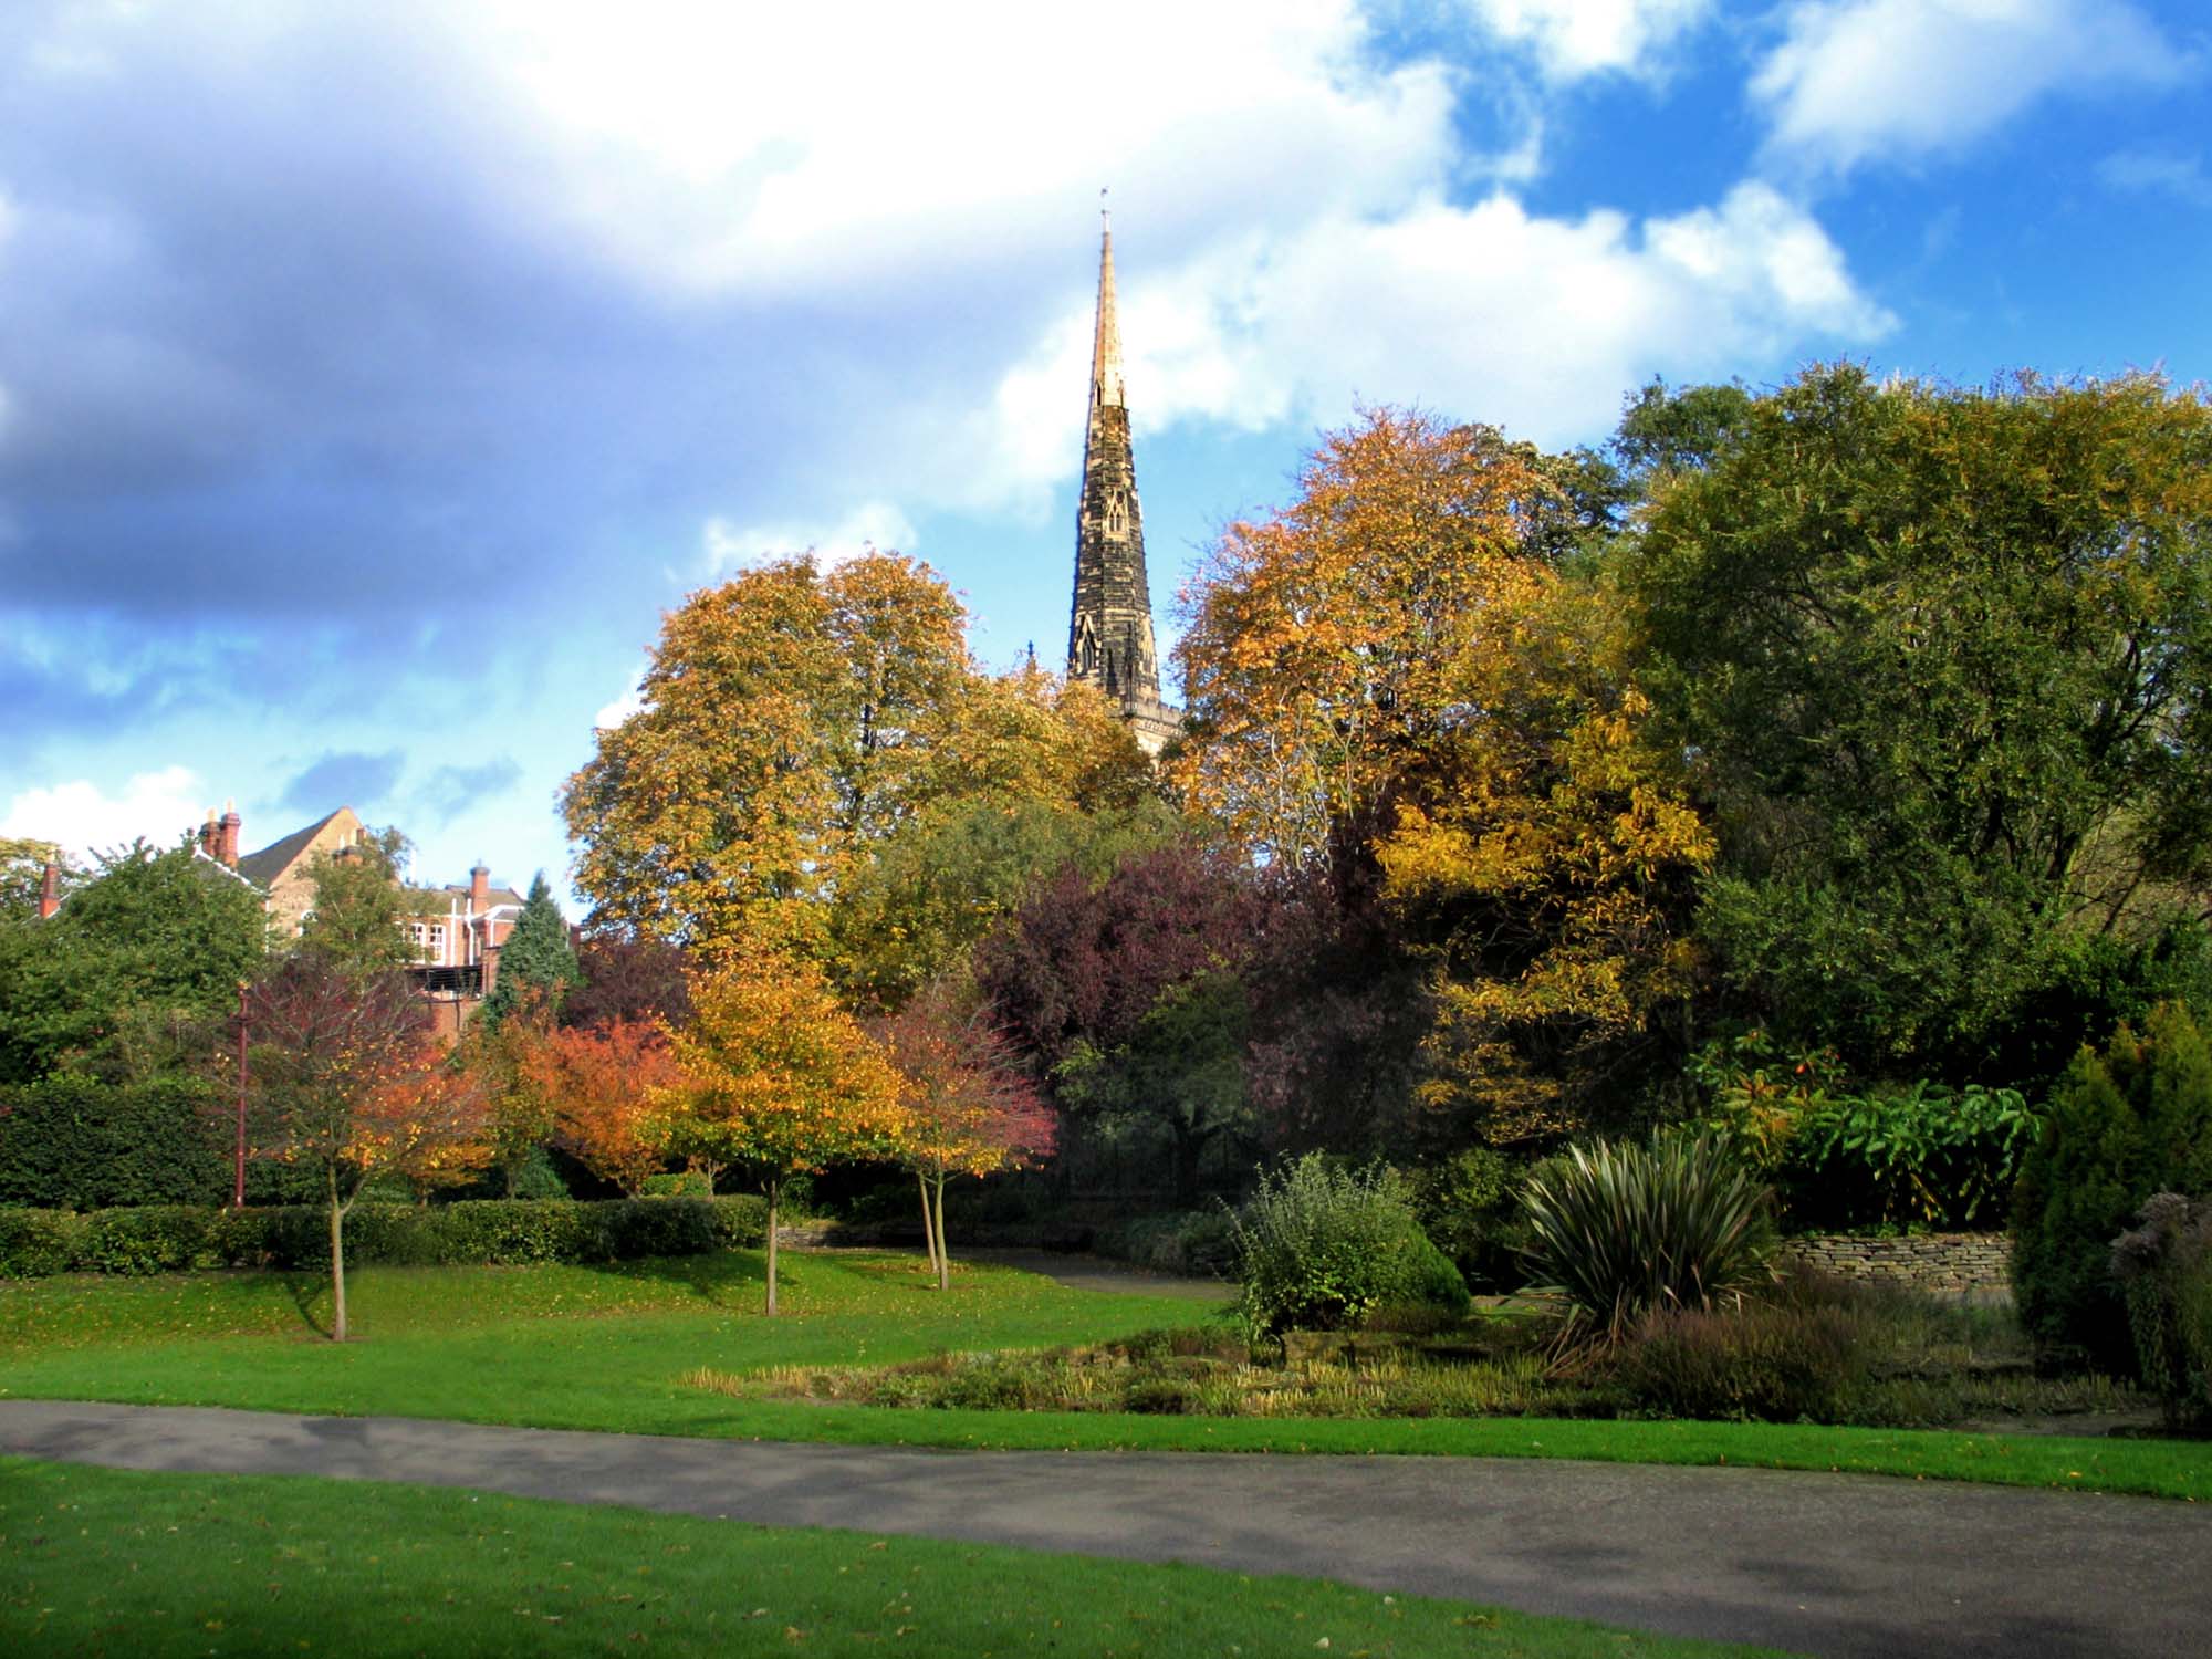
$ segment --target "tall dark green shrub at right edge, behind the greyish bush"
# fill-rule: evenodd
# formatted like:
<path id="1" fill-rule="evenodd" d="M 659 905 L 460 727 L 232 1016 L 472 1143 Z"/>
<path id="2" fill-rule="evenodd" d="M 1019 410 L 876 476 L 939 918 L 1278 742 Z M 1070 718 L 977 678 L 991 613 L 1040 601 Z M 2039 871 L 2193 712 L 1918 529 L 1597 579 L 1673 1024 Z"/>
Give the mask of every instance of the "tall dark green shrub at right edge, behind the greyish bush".
<path id="1" fill-rule="evenodd" d="M 2013 1298 L 2046 1365 L 2132 1376 L 2112 1239 L 2154 1192 L 2212 1192 L 2212 1048 L 2177 1002 L 2081 1048 L 2013 1197 Z"/>

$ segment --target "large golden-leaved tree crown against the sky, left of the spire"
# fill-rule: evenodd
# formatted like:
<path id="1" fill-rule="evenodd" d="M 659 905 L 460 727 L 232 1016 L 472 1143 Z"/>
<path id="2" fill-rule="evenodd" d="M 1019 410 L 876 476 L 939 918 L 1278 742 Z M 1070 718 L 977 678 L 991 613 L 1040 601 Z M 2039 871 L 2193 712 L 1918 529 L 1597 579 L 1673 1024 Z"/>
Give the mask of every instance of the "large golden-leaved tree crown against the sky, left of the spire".
<path id="1" fill-rule="evenodd" d="M 964 664 L 958 599 L 896 553 L 695 593 L 661 626 L 644 708 L 562 796 L 593 927 L 812 951 L 818 900 L 911 810 Z"/>

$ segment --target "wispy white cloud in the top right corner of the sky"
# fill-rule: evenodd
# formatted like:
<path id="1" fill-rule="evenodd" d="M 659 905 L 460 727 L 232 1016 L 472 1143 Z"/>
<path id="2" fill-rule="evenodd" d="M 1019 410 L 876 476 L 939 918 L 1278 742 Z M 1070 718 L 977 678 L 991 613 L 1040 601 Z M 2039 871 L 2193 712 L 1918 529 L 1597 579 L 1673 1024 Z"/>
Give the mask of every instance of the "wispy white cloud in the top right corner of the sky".
<path id="1" fill-rule="evenodd" d="M 1781 153 L 1843 170 L 1964 148 L 2051 93 L 2170 84 L 2185 62 L 2128 0 L 1803 0 L 1752 97 Z"/>

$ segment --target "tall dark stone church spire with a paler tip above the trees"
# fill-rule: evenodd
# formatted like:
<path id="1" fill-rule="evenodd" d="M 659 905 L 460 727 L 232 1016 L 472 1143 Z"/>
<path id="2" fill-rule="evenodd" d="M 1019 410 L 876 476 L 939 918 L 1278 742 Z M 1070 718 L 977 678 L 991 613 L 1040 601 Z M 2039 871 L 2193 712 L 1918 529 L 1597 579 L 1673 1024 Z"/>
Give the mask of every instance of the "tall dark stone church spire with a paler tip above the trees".
<path id="1" fill-rule="evenodd" d="M 1137 513 L 1137 458 L 1128 442 L 1128 400 L 1121 392 L 1110 223 L 1099 234 L 1099 316 L 1091 343 L 1084 489 L 1075 509 L 1068 679 L 1086 679 L 1106 692 L 1146 754 L 1159 754 L 1179 730 L 1175 710 L 1159 701 L 1152 588 L 1144 573 L 1144 520 Z"/>

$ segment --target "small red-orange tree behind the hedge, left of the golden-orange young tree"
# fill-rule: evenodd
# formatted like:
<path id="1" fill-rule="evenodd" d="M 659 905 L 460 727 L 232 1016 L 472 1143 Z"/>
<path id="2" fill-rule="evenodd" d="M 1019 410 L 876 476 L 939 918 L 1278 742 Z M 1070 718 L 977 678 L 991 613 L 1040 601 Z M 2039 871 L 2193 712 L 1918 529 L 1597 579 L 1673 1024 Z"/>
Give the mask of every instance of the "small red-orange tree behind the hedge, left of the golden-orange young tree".
<path id="1" fill-rule="evenodd" d="M 666 1155 L 655 1130 L 657 1097 L 681 1073 L 657 1020 L 540 1031 L 522 1055 L 522 1075 L 551 1102 L 560 1148 L 602 1181 L 635 1199 L 659 1172 Z"/>

